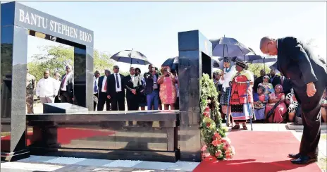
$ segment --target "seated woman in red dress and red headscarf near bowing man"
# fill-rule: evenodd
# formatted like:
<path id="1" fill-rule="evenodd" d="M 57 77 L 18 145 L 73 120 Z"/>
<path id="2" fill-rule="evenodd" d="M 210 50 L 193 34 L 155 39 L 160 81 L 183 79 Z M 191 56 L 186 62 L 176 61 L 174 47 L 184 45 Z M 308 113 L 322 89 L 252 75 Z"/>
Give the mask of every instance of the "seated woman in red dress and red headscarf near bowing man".
<path id="1" fill-rule="evenodd" d="M 283 86 L 276 85 L 275 92 L 269 94 L 269 101 L 266 106 L 266 118 L 269 123 L 283 123 L 284 116 L 287 111 L 285 102 L 285 94 Z"/>

